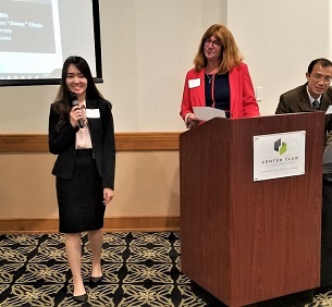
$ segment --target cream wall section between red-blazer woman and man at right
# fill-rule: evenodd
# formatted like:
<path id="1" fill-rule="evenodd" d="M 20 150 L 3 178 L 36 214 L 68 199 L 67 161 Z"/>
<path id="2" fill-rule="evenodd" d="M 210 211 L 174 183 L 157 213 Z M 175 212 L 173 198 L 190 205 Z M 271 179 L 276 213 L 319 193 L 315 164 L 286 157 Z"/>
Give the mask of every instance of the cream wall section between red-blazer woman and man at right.
<path id="1" fill-rule="evenodd" d="M 311 60 L 332 60 L 332 2 L 319 1 L 319 9 L 317 3 L 228 1 L 228 26 L 249 65 L 254 87 L 262 88 L 262 115 L 274 114 L 281 94 L 306 83 Z"/>

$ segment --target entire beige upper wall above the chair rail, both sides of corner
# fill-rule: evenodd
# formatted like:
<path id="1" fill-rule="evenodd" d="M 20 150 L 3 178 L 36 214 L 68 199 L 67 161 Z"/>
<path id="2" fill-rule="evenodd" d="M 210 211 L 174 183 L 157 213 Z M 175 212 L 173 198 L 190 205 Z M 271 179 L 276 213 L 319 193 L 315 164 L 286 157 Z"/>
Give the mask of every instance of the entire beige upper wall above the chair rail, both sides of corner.
<path id="1" fill-rule="evenodd" d="M 263 115 L 303 83 L 313 58 L 332 58 L 332 2 L 320 0 L 99 0 L 104 83 L 116 132 L 184 131 L 185 73 L 212 23 L 226 24 L 262 87 Z M 57 86 L 0 87 L 0 133 L 47 133 Z"/>

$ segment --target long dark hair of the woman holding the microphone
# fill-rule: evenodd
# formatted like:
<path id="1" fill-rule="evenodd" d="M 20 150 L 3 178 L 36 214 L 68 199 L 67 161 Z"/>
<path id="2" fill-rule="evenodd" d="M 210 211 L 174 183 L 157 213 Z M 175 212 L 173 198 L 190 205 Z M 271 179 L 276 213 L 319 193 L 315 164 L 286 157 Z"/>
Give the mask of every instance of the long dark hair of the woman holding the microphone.
<path id="1" fill-rule="evenodd" d="M 64 125 L 65 121 L 69 119 L 69 113 L 71 111 L 70 101 L 70 90 L 66 86 L 66 74 L 69 66 L 74 64 L 76 69 L 86 77 L 87 88 L 86 88 L 86 99 L 104 99 L 93 78 L 90 67 L 85 59 L 78 56 L 69 57 L 62 66 L 61 85 L 56 97 L 56 106 L 60 113 L 60 119 L 58 123 L 58 128 Z"/>

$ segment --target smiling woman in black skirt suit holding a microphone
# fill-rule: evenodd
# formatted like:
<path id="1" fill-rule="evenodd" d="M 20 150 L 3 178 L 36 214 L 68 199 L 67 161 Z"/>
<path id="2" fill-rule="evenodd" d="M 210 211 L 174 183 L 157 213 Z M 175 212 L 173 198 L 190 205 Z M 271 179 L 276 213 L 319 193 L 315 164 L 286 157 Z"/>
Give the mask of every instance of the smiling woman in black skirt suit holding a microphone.
<path id="1" fill-rule="evenodd" d="M 97 89 L 88 63 L 70 57 L 49 114 L 49 150 L 58 155 L 52 174 L 59 205 L 59 231 L 73 274 L 73 297 L 87 299 L 81 273 L 81 233 L 93 254 L 90 281 L 102 279 L 101 248 L 106 205 L 113 198 L 115 145 L 112 106 Z"/>

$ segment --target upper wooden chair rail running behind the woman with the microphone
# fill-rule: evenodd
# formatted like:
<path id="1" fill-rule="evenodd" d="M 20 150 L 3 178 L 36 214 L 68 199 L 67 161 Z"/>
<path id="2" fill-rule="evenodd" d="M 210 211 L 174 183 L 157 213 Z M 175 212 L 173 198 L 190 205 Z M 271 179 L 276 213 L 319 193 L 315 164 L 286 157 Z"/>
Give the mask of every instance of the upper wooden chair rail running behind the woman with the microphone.
<path id="1" fill-rule="evenodd" d="M 179 150 L 180 132 L 115 133 L 116 151 Z M 48 152 L 46 134 L 0 134 L 0 154 Z"/>

